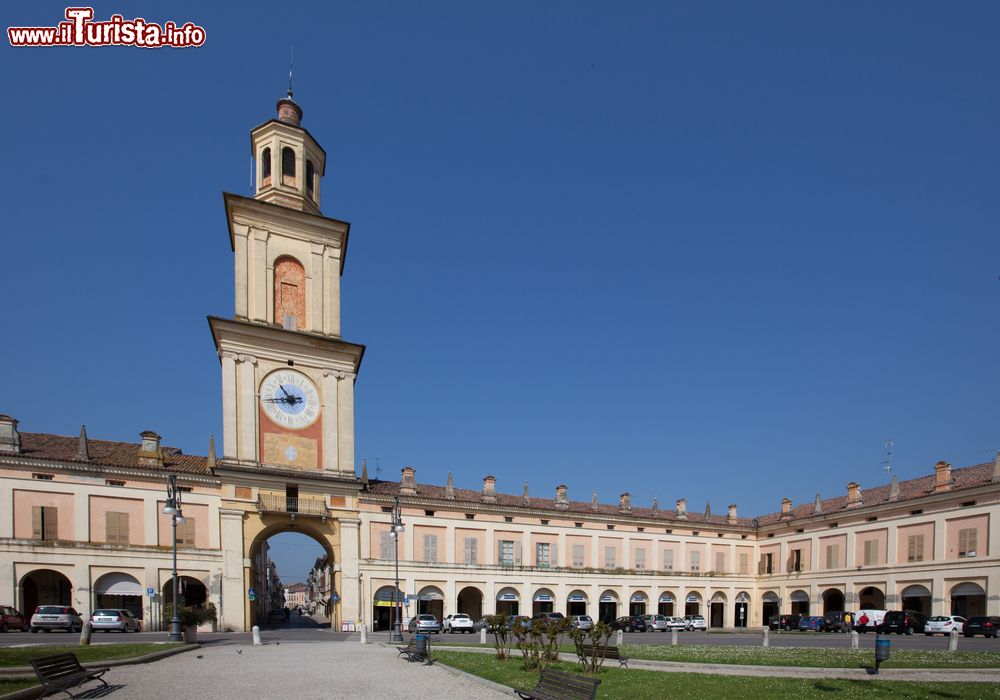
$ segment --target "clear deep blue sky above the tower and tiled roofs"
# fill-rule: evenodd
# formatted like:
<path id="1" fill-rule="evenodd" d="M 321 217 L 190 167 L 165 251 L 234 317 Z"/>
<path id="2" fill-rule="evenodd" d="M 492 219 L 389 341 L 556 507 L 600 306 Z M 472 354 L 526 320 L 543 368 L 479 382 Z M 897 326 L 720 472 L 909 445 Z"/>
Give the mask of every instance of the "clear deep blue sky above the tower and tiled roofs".
<path id="1" fill-rule="evenodd" d="M 756 515 L 882 483 L 886 438 L 901 478 L 1000 448 L 997 3 L 236 7 L 95 8 L 197 49 L 4 41 L 22 429 L 219 435 L 220 192 L 294 44 L 372 476 Z"/>

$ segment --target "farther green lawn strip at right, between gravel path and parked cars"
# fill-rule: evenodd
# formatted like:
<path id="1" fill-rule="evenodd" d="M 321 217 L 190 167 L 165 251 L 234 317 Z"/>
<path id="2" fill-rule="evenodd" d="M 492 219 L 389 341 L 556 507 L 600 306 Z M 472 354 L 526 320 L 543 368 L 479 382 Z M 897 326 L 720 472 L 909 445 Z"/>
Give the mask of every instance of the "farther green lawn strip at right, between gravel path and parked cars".
<path id="1" fill-rule="evenodd" d="M 452 644 L 450 646 L 459 646 Z M 461 646 L 482 647 L 482 644 Z M 485 645 L 492 648 L 492 644 Z M 874 652 L 871 649 L 853 651 L 843 648 L 810 647 L 735 647 L 707 644 L 625 644 L 629 658 L 648 661 L 681 661 L 705 664 L 737 664 L 743 666 L 809 666 L 815 668 L 859 668 L 871 666 Z M 560 650 L 573 654 L 572 644 L 563 644 Z M 517 646 L 511 650 L 520 654 Z M 884 668 L 1000 668 L 1000 654 L 994 651 L 925 651 L 922 649 L 893 649 Z"/>

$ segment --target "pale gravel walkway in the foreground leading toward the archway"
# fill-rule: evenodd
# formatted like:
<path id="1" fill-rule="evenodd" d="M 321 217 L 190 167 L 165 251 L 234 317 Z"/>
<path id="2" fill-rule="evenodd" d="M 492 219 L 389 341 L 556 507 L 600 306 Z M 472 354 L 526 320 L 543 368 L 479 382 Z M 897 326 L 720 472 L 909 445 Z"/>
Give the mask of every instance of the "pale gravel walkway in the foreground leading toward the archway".
<path id="1" fill-rule="evenodd" d="M 492 700 L 504 694 L 438 666 L 409 663 L 393 648 L 357 642 L 215 643 L 152 664 L 113 668 L 90 697 L 415 698 Z M 89 686 L 88 686 L 89 687 Z"/>

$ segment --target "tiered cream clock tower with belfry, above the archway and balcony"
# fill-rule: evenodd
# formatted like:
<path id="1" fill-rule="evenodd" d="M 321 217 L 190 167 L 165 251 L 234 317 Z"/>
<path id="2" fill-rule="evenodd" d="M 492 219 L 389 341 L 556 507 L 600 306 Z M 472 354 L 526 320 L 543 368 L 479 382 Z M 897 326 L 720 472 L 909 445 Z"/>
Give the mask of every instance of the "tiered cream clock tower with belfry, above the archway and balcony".
<path id="1" fill-rule="evenodd" d="M 364 346 L 340 334 L 350 224 L 320 213 L 326 152 L 291 94 L 250 132 L 253 197 L 226 193 L 235 315 L 209 318 L 222 363 L 222 459 L 353 479 Z"/>

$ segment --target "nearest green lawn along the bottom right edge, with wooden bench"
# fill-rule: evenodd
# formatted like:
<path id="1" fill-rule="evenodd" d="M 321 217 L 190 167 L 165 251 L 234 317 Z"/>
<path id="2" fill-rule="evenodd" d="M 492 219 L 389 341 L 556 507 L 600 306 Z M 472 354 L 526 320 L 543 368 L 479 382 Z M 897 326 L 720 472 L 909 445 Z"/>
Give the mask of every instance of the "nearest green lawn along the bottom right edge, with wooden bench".
<path id="1" fill-rule="evenodd" d="M 538 674 L 524 671 L 520 657 L 500 662 L 489 654 L 435 651 L 434 660 L 495 683 L 531 688 Z M 579 673 L 574 663 L 555 665 Z M 732 698 L 765 697 L 767 700 L 798 700 L 804 697 L 839 698 L 1000 698 L 996 683 L 910 683 L 904 681 L 844 681 L 804 678 L 748 678 L 709 676 L 697 673 L 663 673 L 607 668 L 601 672 L 598 698 Z"/>

